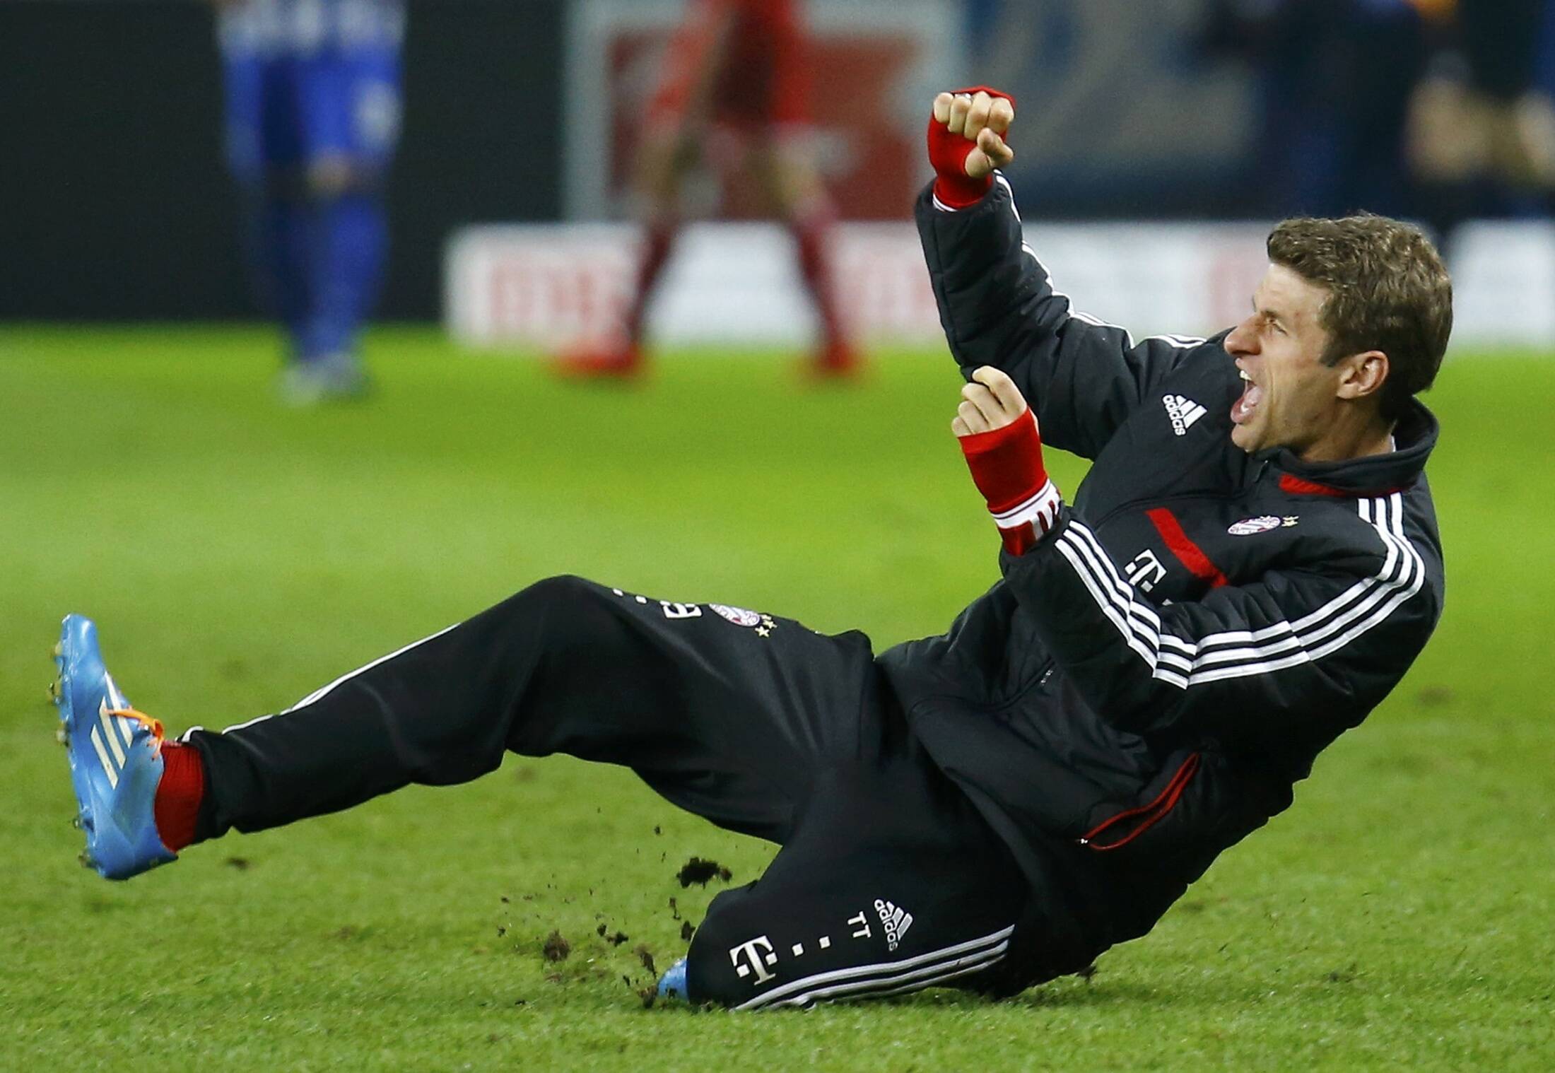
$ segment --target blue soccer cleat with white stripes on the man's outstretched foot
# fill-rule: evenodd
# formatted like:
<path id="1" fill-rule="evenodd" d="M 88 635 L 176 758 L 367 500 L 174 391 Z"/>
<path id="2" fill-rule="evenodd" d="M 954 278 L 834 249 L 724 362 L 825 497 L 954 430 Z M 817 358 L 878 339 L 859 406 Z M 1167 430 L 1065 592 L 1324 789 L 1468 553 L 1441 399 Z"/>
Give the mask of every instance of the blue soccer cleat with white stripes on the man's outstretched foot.
<path id="1" fill-rule="evenodd" d="M 76 826 L 87 832 L 81 863 L 104 879 L 129 879 L 177 860 L 157 835 L 162 723 L 129 706 L 103 666 L 96 627 L 67 614 L 54 647 L 59 740 L 70 753 Z"/>

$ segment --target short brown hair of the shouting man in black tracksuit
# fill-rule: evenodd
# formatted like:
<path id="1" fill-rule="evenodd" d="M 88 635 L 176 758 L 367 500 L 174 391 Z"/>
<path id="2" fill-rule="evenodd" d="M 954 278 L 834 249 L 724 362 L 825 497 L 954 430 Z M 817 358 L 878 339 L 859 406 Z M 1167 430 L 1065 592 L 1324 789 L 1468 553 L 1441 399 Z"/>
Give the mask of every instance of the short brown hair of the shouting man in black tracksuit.
<path id="1" fill-rule="evenodd" d="M 1323 364 L 1365 350 L 1387 355 L 1386 417 L 1431 387 L 1452 334 L 1452 278 L 1418 227 L 1370 213 L 1288 219 L 1269 233 L 1269 260 L 1328 288 Z"/>

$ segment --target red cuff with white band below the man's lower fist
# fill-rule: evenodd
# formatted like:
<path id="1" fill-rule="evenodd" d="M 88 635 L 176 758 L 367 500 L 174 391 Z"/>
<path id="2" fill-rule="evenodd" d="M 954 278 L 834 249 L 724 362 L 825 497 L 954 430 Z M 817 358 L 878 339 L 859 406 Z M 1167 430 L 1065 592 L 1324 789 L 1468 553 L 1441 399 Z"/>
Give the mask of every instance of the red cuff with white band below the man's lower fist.
<path id="1" fill-rule="evenodd" d="M 1042 463 L 1037 418 L 1028 407 L 1005 428 L 963 435 L 959 443 L 1005 549 L 1025 554 L 1057 524 L 1064 505 Z"/>

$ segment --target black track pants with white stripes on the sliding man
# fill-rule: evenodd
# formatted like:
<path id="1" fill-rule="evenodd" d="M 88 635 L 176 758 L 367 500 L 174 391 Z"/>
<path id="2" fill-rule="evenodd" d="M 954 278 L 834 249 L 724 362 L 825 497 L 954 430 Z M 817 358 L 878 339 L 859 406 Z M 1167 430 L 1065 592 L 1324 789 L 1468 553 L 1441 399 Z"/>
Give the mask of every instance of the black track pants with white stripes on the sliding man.
<path id="1" fill-rule="evenodd" d="M 504 753 L 633 768 L 672 802 L 784 849 L 714 899 L 690 994 L 809 1005 L 991 984 L 1025 883 L 907 731 L 860 633 L 673 603 L 574 577 L 532 585 L 295 708 L 187 739 L 199 838 L 466 782 Z"/>

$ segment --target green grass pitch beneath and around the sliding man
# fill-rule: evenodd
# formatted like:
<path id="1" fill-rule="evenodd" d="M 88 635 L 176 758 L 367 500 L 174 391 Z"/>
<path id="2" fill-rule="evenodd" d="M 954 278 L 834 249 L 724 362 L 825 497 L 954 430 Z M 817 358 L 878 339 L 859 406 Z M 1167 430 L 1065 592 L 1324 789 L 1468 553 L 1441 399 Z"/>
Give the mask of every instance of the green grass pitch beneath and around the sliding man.
<path id="1" fill-rule="evenodd" d="M 1449 361 L 1440 631 L 1151 936 L 1003 1005 L 729 1015 L 645 1011 L 633 950 L 683 949 L 670 899 L 697 921 L 714 893 L 678 886 L 687 857 L 742 882 L 770 848 L 568 759 L 104 883 L 75 863 L 47 652 L 64 613 L 95 616 L 177 731 L 557 572 L 880 647 L 939 631 L 997 574 L 947 359 L 888 355 L 835 389 L 776 355 L 680 355 L 577 387 L 387 330 L 372 404 L 297 414 L 271 347 L 0 328 L 0 1068 L 1555 1067 L 1555 362 Z"/>

